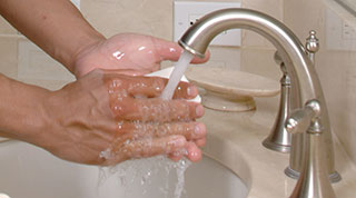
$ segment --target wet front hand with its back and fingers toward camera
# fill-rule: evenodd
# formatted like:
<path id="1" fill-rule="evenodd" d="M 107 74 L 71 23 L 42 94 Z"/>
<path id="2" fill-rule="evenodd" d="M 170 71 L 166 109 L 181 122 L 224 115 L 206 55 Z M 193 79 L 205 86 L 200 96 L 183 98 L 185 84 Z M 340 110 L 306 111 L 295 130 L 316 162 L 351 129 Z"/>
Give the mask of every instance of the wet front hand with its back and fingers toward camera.
<path id="1" fill-rule="evenodd" d="M 179 159 L 184 149 L 188 159 L 197 161 L 206 128 L 195 119 L 204 108 L 186 100 L 195 98 L 197 89 L 180 82 L 175 99 L 162 100 L 166 82 L 96 69 L 49 95 L 43 105 L 47 127 L 32 143 L 65 160 L 89 165 L 156 155 Z"/>

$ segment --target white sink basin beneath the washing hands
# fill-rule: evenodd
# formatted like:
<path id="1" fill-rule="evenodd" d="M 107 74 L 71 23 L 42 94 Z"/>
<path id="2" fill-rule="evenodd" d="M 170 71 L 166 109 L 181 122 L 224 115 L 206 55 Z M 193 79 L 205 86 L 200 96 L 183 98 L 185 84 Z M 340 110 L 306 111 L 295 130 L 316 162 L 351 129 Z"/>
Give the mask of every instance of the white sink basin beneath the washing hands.
<path id="1" fill-rule="evenodd" d="M 0 143 L 0 195 L 11 198 L 175 198 L 176 169 L 168 174 L 162 158 L 127 161 L 106 179 L 103 170 L 58 159 L 34 146 Z M 101 174 L 100 174 L 101 172 Z M 125 174 L 125 176 L 119 177 Z M 241 179 L 211 158 L 204 157 L 185 174 L 181 198 L 245 198 Z M 101 185 L 98 185 L 100 181 Z"/>

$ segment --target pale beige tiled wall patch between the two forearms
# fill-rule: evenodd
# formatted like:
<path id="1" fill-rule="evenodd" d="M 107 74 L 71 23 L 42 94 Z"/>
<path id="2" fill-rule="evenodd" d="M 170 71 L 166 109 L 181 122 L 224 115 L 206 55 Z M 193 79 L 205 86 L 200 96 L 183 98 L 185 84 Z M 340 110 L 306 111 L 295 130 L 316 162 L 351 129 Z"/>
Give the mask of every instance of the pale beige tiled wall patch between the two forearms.
<path id="1" fill-rule="evenodd" d="M 2 75 L 50 90 L 73 80 L 61 65 L 20 37 L 0 36 L 0 60 Z"/>

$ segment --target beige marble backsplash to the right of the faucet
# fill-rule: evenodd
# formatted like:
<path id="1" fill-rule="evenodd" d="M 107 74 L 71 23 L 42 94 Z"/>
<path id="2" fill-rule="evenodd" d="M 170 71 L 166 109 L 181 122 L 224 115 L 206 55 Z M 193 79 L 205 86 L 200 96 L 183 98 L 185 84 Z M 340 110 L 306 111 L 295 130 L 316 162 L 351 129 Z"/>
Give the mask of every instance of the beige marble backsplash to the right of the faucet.
<path id="1" fill-rule="evenodd" d="M 326 97 L 332 128 L 345 151 L 356 162 L 356 46 L 340 49 L 327 44 L 329 39 L 335 39 L 328 33 L 333 27 L 327 14 L 333 12 L 340 22 L 348 21 L 354 27 L 356 18 L 334 0 L 285 1 L 284 10 L 288 13 L 284 16 L 284 22 L 297 37 L 306 37 L 312 29 L 317 31 L 320 50 L 316 55 L 316 70 Z M 304 10 L 303 14 L 299 10 Z"/>

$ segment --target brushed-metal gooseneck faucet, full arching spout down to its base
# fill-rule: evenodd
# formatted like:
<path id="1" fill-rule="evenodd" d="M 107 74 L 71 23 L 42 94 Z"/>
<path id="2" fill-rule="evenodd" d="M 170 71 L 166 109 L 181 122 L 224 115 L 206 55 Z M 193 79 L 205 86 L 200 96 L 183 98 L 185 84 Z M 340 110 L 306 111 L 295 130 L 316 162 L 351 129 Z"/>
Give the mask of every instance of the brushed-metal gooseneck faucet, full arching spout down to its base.
<path id="1" fill-rule="evenodd" d="M 335 171 L 334 165 L 334 146 L 329 126 L 328 112 L 325 103 L 324 93 L 320 87 L 319 79 L 314 68 L 313 61 L 309 59 L 307 51 L 300 43 L 298 38 L 289 30 L 285 24 L 278 20 L 249 9 L 224 9 L 211 12 L 201 19 L 199 19 L 194 26 L 191 26 L 179 40 L 179 44 L 190 51 L 191 53 L 202 58 L 210 43 L 210 41 L 220 32 L 229 29 L 248 29 L 253 30 L 266 39 L 268 39 L 277 49 L 283 62 L 286 66 L 286 70 L 290 77 L 291 83 L 291 101 L 290 110 L 298 110 L 299 113 L 291 113 L 288 126 L 288 130 L 293 131 L 291 147 L 290 147 L 290 160 L 289 167 L 287 168 L 288 176 L 298 178 L 301 170 L 305 172 L 306 158 L 310 156 L 323 156 L 318 162 L 309 160 L 314 166 L 322 166 L 318 169 L 307 169 L 310 171 L 325 169 L 325 177 L 333 181 L 340 179 L 339 175 Z M 312 102 L 316 101 L 316 102 Z M 309 108 L 309 105 L 317 103 L 319 109 Z M 294 118 L 297 116 L 296 118 Z M 298 117 L 300 116 L 300 117 Z M 294 120 L 294 121 L 293 121 Z M 300 121 L 301 120 L 301 121 Z M 314 132 L 317 135 L 309 136 L 313 133 L 315 126 L 318 126 L 317 130 L 323 132 Z M 307 132 L 307 131 L 312 132 Z M 315 129 L 316 130 L 316 129 Z M 312 141 L 310 141 L 312 137 Z M 308 139 L 309 138 L 309 139 Z M 308 139 L 308 140 L 307 140 Z M 317 141 L 314 141 L 317 139 Z M 309 152 L 310 148 L 315 148 L 314 145 L 308 146 L 313 142 L 317 142 L 320 147 Z M 301 175 L 303 176 L 303 175 Z M 319 176 L 319 175 L 317 175 Z M 330 185 L 329 180 L 319 182 L 318 179 L 307 180 L 306 177 L 300 177 L 303 184 L 305 182 L 317 182 L 316 185 L 309 185 L 310 188 L 318 188 L 315 190 L 327 189 L 327 187 L 320 187 L 323 185 Z M 313 177 L 308 177 L 313 178 Z M 298 188 L 307 191 L 305 188 Z M 305 195 L 297 194 L 294 195 Z M 325 194 L 320 194 L 325 195 Z M 313 196 L 313 195 L 312 195 Z M 301 196 L 303 197 L 303 196 Z M 323 196 L 315 196 L 323 197 Z"/>

